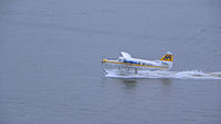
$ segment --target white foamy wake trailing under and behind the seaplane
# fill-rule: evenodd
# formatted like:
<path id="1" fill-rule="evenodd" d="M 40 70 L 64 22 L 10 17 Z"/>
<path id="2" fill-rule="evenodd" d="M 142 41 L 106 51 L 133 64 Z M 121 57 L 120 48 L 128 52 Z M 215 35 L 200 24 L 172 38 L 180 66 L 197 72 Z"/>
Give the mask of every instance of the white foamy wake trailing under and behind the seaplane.
<path id="1" fill-rule="evenodd" d="M 221 71 L 203 72 L 200 70 L 189 71 L 139 71 L 137 75 L 133 72 L 123 72 L 118 70 L 106 70 L 105 77 L 112 78 L 176 78 L 176 79 L 221 79 Z"/>

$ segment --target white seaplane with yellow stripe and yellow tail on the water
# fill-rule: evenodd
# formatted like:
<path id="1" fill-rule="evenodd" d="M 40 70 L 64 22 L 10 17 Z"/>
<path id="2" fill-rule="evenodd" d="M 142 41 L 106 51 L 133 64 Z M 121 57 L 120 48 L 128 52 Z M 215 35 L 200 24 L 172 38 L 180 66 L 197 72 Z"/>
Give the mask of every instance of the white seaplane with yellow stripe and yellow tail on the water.
<path id="1" fill-rule="evenodd" d="M 102 65 L 106 72 L 107 70 L 115 69 L 122 72 L 138 74 L 138 70 L 170 70 L 172 68 L 173 56 L 170 52 L 159 60 L 133 58 L 131 55 L 126 52 L 120 52 L 120 55 L 122 56 L 118 58 L 102 59 Z"/>

